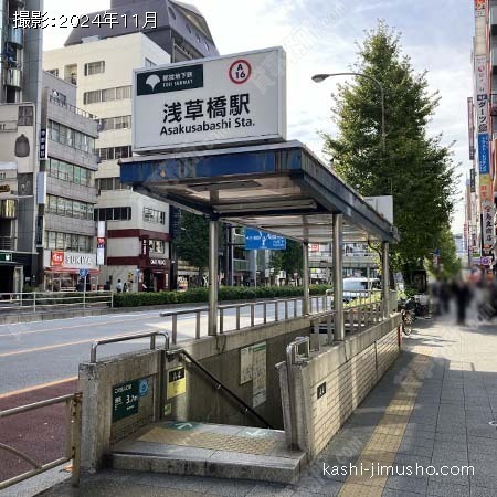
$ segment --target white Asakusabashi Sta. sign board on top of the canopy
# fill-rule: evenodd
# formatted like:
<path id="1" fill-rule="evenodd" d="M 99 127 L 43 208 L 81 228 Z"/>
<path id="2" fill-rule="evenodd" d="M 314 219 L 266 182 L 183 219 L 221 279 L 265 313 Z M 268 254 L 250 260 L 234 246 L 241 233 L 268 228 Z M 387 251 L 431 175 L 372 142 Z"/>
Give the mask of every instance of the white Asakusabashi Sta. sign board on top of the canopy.
<path id="1" fill-rule="evenodd" d="M 135 70 L 133 81 L 138 154 L 286 137 L 281 47 Z"/>

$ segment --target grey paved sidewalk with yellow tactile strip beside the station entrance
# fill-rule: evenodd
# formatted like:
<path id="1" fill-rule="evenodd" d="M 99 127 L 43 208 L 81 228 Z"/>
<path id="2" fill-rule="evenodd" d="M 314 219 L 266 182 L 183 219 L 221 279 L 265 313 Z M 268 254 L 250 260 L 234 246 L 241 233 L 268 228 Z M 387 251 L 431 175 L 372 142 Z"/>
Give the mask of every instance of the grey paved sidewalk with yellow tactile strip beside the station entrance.
<path id="1" fill-rule="evenodd" d="M 41 495 L 495 497 L 497 326 L 454 321 L 415 321 L 404 352 L 298 485 L 106 470 Z M 372 475 L 378 465 L 390 468 Z"/>

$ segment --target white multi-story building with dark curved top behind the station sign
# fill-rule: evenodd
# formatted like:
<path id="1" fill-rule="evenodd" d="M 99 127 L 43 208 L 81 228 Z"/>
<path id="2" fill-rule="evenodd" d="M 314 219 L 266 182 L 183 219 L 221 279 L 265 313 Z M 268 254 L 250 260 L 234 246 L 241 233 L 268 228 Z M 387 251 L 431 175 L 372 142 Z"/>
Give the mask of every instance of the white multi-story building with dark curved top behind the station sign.
<path id="1" fill-rule="evenodd" d="M 74 29 L 63 49 L 45 52 L 44 68 L 77 84 L 77 106 L 97 116 L 101 158 L 96 173 L 96 219 L 106 223 L 103 281 L 130 282 L 134 289 L 176 286 L 171 253 L 178 212 L 119 182 L 117 161 L 131 155 L 131 75 L 134 68 L 218 55 L 202 14 L 176 1 L 114 0 L 108 12 L 117 25 Z M 89 17 L 105 12 L 95 12 Z M 171 285 L 172 283 L 172 285 Z"/>

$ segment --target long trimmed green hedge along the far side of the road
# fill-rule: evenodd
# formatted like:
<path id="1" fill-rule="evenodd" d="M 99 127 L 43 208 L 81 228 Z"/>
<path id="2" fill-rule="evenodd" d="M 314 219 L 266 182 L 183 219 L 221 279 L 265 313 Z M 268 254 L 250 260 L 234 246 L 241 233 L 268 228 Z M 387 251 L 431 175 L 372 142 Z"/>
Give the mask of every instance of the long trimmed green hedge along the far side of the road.
<path id="1" fill-rule="evenodd" d="M 331 288 L 329 285 L 311 285 L 310 295 L 325 295 Z M 302 286 L 222 286 L 219 289 L 219 300 L 252 300 L 257 298 L 299 297 Z M 167 304 L 205 304 L 209 300 L 208 288 L 192 288 L 187 292 L 156 292 L 139 294 L 115 294 L 114 307 L 159 306 Z"/>

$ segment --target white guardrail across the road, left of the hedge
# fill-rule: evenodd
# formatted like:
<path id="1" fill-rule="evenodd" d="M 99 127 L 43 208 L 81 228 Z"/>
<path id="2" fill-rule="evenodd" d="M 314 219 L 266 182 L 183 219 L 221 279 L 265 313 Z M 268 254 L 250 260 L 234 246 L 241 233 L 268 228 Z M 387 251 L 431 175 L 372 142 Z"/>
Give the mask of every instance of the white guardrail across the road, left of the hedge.
<path id="1" fill-rule="evenodd" d="M 0 316 L 12 313 L 67 310 L 71 308 L 114 307 L 113 292 L 0 293 Z"/>

